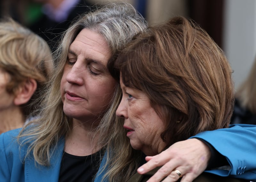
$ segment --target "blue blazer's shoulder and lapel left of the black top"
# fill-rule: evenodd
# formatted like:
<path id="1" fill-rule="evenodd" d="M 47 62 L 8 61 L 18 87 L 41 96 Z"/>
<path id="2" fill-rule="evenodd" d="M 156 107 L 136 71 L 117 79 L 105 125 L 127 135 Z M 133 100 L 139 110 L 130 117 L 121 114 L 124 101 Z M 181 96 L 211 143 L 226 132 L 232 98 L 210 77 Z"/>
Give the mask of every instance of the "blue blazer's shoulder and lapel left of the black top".
<path id="1" fill-rule="evenodd" d="M 0 181 L 45 182 L 58 181 L 60 163 L 64 150 L 64 139 L 57 144 L 51 157 L 50 167 L 35 166 L 33 157 L 24 157 L 28 146 L 19 148 L 16 136 L 20 129 L 0 135 Z"/>

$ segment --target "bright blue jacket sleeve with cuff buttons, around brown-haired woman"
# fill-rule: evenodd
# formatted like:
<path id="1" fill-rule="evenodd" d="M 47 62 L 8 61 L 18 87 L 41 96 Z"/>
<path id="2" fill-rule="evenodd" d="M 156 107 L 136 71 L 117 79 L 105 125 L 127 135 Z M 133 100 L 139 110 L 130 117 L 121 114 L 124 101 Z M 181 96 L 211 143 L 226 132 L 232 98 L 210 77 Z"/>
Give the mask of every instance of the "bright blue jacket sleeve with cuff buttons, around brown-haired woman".
<path id="1" fill-rule="evenodd" d="M 256 125 L 230 125 L 229 128 L 198 133 L 191 138 L 199 138 L 211 144 L 226 157 L 230 165 L 207 172 L 256 180 Z"/>

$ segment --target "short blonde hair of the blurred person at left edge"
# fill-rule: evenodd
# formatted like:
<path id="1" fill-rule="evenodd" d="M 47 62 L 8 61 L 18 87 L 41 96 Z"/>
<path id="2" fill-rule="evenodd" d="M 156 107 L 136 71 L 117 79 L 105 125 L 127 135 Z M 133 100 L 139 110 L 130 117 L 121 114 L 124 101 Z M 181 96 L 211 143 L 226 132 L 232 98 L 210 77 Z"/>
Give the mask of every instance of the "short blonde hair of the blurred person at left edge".
<path id="1" fill-rule="evenodd" d="M 35 79 L 37 88 L 30 101 L 21 105 L 24 116 L 35 110 L 40 96 L 53 71 L 52 52 L 40 36 L 21 26 L 11 18 L 0 22 L 0 67 L 11 80 L 6 90 L 15 94 L 28 78 Z"/>

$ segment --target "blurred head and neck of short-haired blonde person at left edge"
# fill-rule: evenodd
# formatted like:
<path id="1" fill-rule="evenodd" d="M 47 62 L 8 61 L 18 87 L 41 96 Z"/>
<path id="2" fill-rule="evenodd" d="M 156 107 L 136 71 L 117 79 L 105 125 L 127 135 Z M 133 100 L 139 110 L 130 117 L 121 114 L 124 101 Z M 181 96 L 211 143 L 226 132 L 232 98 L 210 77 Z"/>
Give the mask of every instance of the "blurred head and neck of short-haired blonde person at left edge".
<path id="1" fill-rule="evenodd" d="M 0 22 L 0 133 L 36 116 L 35 100 L 52 71 L 47 42 L 12 19 Z"/>

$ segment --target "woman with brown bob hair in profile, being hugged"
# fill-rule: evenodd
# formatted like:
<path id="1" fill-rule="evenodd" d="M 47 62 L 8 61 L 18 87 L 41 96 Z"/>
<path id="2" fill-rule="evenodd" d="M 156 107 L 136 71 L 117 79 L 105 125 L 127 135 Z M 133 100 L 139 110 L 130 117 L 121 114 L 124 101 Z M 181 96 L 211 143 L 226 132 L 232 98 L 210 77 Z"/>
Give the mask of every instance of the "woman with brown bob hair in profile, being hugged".
<path id="1" fill-rule="evenodd" d="M 223 51 L 193 22 L 176 17 L 137 34 L 118 54 L 115 66 L 123 93 L 116 115 L 124 119 L 115 125 L 126 129 L 135 150 L 157 155 L 197 133 L 228 127 L 234 104 L 232 70 Z M 130 159 L 134 169 L 140 164 L 132 153 L 113 156 L 114 149 L 107 151 L 105 166 L 101 164 L 109 181 L 115 179 L 112 169 L 126 165 L 123 161 Z M 136 173 L 130 181 L 146 181 L 156 170 Z M 180 171 L 169 177 L 178 180 Z M 207 173 L 195 181 L 206 180 L 236 181 Z"/>

